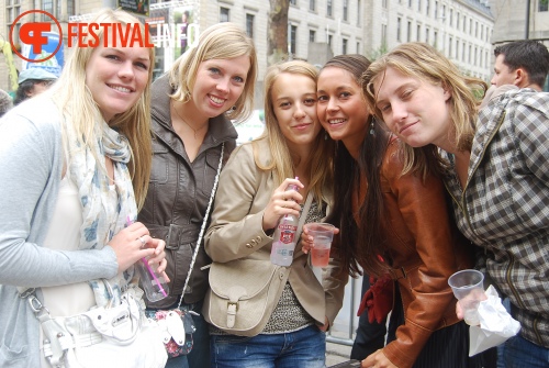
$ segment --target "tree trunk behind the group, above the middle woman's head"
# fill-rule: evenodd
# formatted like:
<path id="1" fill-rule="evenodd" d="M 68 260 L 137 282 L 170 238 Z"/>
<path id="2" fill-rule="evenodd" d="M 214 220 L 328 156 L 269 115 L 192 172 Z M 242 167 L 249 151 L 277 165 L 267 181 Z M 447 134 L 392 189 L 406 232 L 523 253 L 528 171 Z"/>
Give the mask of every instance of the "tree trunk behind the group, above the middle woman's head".
<path id="1" fill-rule="evenodd" d="M 288 10 L 290 0 L 269 0 L 270 12 L 267 33 L 267 63 L 288 59 Z"/>

